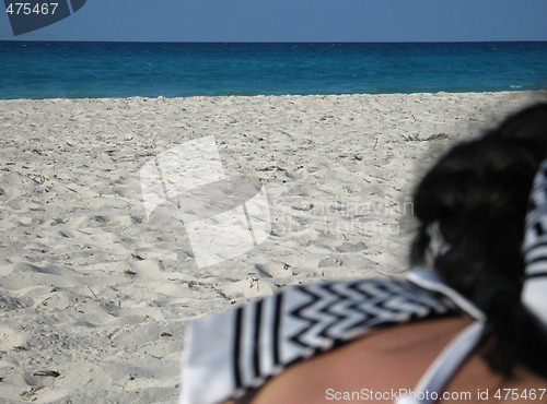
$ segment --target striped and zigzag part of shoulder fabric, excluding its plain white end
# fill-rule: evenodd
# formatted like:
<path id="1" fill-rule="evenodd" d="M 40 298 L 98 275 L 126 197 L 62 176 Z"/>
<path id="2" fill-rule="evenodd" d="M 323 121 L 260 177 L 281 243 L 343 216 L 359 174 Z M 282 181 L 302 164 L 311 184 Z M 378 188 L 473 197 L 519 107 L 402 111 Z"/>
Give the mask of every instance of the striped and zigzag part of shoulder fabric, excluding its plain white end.
<path id="1" fill-rule="evenodd" d="M 259 385 L 294 361 L 376 328 L 455 310 L 447 298 L 406 281 L 330 282 L 288 289 L 235 310 L 234 388 Z"/>

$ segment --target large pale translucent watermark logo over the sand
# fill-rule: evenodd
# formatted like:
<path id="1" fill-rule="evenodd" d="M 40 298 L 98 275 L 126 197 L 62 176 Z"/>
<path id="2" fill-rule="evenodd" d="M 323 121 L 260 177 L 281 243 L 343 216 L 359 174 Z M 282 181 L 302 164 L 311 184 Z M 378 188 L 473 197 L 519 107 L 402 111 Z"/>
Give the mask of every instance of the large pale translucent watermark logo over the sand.
<path id="1" fill-rule="evenodd" d="M 147 218 L 182 224 L 198 268 L 240 256 L 270 234 L 264 187 L 226 176 L 212 135 L 158 155 L 141 168 L 140 180 Z"/>

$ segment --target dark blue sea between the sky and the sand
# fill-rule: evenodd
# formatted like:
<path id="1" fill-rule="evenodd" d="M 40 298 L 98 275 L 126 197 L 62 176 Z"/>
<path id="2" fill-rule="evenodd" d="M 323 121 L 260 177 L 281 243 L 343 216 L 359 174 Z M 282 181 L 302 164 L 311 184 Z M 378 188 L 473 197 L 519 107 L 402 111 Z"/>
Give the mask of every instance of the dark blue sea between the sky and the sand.
<path id="1" fill-rule="evenodd" d="M 547 90 L 547 41 L 0 41 L 0 98 Z"/>

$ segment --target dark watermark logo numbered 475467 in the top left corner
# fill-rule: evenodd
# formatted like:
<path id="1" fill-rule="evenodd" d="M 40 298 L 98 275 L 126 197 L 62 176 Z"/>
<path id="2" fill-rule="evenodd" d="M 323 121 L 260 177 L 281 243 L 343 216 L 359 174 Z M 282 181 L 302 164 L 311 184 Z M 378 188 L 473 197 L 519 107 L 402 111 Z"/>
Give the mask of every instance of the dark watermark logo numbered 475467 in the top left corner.
<path id="1" fill-rule="evenodd" d="M 4 0 L 13 35 L 55 24 L 80 10 L 86 0 L 13 1 Z"/>

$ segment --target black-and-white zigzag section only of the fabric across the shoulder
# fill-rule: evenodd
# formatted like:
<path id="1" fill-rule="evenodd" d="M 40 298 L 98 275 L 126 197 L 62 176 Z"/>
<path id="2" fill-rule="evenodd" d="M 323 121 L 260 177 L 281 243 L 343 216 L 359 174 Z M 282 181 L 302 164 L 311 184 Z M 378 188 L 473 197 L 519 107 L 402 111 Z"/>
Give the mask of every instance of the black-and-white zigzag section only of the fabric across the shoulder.
<path id="1" fill-rule="evenodd" d="M 289 340 L 314 350 L 375 326 L 443 314 L 453 308 L 406 282 L 331 283 L 296 290 L 307 295 L 310 301 L 290 314 L 306 326 Z"/>

